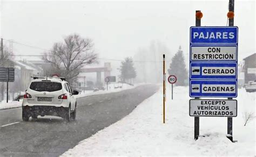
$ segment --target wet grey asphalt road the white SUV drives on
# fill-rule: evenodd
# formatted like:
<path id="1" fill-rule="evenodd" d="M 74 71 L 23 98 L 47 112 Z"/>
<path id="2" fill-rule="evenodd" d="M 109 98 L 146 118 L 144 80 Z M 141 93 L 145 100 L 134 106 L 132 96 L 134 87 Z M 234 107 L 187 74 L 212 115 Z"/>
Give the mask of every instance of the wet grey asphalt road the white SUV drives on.
<path id="1" fill-rule="evenodd" d="M 22 122 L 21 108 L 0 110 L 0 156 L 59 156 L 128 115 L 156 85 L 77 99 L 77 119 L 38 117 Z M 11 124 L 11 125 L 8 125 Z"/>

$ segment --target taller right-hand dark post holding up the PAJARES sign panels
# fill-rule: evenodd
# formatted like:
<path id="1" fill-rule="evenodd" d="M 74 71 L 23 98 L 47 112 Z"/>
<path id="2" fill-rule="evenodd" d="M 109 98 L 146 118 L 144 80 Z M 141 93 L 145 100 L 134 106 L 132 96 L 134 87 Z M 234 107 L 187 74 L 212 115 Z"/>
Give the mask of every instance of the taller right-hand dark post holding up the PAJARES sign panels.
<path id="1" fill-rule="evenodd" d="M 228 11 L 234 12 L 234 0 L 230 0 L 228 4 Z M 234 26 L 234 18 L 228 19 L 228 26 Z M 227 98 L 232 99 L 232 98 Z M 233 142 L 233 118 L 227 117 L 227 138 Z"/>

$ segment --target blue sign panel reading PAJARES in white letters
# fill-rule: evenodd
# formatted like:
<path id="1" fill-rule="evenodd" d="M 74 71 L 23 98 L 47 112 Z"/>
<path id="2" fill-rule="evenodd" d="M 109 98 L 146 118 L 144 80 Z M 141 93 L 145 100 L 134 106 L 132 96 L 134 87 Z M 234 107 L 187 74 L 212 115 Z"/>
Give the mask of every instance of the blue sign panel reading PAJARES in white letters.
<path id="1" fill-rule="evenodd" d="M 190 27 L 191 44 L 237 44 L 238 27 Z"/>

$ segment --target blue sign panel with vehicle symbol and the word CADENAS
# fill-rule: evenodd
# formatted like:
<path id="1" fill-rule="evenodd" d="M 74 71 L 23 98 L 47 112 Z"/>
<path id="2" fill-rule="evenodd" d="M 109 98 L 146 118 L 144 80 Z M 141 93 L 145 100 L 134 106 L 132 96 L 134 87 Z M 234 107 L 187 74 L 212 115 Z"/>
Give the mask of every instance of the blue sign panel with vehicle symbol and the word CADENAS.
<path id="1" fill-rule="evenodd" d="M 190 97 L 237 97 L 237 81 L 190 81 Z"/>

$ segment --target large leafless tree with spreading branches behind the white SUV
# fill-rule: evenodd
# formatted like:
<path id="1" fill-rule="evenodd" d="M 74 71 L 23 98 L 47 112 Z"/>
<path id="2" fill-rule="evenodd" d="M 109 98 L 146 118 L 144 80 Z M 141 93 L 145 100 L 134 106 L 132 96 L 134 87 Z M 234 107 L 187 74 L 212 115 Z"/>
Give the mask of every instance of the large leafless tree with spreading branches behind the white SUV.
<path id="1" fill-rule="evenodd" d="M 91 39 L 71 34 L 64 38 L 64 42 L 55 43 L 50 52 L 45 52 L 43 60 L 51 64 L 50 73 L 65 76 L 73 84 L 80 69 L 96 63 L 97 56 Z"/>

